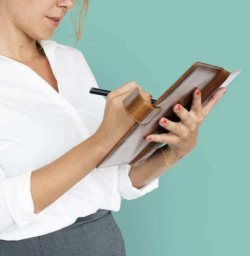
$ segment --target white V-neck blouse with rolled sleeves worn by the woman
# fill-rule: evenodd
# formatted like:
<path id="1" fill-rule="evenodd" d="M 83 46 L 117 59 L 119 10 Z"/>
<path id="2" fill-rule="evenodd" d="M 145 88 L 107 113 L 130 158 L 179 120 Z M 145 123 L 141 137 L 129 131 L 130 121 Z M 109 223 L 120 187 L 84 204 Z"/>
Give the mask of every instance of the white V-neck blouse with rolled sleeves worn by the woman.
<path id="1" fill-rule="evenodd" d="M 92 136 L 106 100 L 83 54 L 52 40 L 38 41 L 59 93 L 28 66 L 0 55 L 0 239 L 21 240 L 60 230 L 98 209 L 118 211 L 158 187 L 158 178 L 136 189 L 128 164 L 94 169 L 46 209 L 34 213 L 32 171 Z"/>

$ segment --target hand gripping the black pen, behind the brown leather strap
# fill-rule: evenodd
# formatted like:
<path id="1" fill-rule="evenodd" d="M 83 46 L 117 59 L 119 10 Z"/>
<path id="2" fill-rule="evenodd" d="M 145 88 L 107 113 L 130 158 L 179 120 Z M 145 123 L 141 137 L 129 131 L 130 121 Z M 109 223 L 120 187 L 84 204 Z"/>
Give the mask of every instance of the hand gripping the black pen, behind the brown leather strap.
<path id="1" fill-rule="evenodd" d="M 132 90 L 138 87 L 141 96 L 151 105 L 150 94 L 144 91 L 134 81 L 130 81 L 107 95 L 103 120 L 95 136 L 107 145 L 115 143 L 126 133 L 135 122 L 124 109 L 123 100 Z"/>

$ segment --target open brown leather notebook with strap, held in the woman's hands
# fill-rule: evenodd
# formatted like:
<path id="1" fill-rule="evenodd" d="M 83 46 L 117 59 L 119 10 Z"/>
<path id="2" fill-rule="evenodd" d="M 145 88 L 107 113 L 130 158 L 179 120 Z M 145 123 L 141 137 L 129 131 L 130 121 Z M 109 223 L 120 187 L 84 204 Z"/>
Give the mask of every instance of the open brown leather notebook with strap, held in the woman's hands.
<path id="1" fill-rule="evenodd" d="M 149 134 L 168 132 L 158 124 L 158 121 L 162 117 L 174 122 L 180 121 L 172 111 L 175 104 L 181 104 L 190 111 L 193 92 L 198 88 L 201 91 L 201 104 L 203 105 L 218 88 L 226 87 L 241 70 L 228 72 L 221 67 L 195 62 L 152 105 L 142 98 L 136 87 L 123 101 L 126 112 L 135 122 L 96 168 L 119 164 L 137 166 L 142 163 L 163 144 L 146 142 L 144 139 Z"/>

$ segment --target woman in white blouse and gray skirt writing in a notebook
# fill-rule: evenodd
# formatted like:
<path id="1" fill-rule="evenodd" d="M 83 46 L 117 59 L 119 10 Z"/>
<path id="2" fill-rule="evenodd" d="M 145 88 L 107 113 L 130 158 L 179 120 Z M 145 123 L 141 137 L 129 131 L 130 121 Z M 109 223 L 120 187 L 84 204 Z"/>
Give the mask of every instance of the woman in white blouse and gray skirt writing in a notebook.
<path id="1" fill-rule="evenodd" d="M 87 9 L 87 1 L 80 4 Z M 111 210 L 157 188 L 169 169 L 161 150 L 138 166 L 95 168 L 133 123 L 123 99 L 135 87 L 148 102 L 152 96 L 133 81 L 106 100 L 89 94 L 98 86 L 82 53 L 49 40 L 74 5 L 0 0 L 1 256 L 124 256 Z M 162 118 L 170 132 L 145 140 L 167 143 L 174 165 L 193 150 L 201 122 L 225 91 L 201 107 L 195 90 L 190 111 L 173 107 L 181 121 Z"/>

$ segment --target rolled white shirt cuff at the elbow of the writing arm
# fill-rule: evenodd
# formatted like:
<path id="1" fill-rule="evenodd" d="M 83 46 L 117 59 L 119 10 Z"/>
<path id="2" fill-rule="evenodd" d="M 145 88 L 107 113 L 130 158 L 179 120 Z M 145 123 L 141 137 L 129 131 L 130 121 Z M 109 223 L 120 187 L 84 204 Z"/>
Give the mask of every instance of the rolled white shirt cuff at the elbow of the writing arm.
<path id="1" fill-rule="evenodd" d="M 31 221 L 39 219 L 43 211 L 34 213 L 34 203 L 31 195 L 32 171 L 24 172 L 2 182 L 2 193 L 9 214 L 18 227 L 23 228 Z"/>

